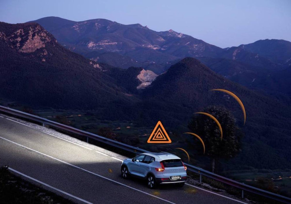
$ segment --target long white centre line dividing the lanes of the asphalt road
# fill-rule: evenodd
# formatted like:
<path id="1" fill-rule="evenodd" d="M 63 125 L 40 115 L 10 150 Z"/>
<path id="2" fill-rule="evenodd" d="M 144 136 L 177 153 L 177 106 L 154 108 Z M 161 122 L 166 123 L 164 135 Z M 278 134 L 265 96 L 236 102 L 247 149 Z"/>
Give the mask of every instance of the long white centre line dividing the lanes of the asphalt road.
<path id="1" fill-rule="evenodd" d="M 166 199 L 163 199 L 163 198 L 160 198 L 160 197 L 154 196 L 154 195 L 152 195 L 152 194 L 149 194 L 149 193 L 147 193 L 147 192 L 144 192 L 144 191 L 141 191 L 141 190 L 139 190 L 139 189 L 133 188 L 133 187 L 131 187 L 131 186 L 125 185 L 125 184 L 120 183 L 120 182 L 118 182 L 118 181 L 112 180 L 112 179 L 110 179 L 110 178 L 107 178 L 107 177 L 101 176 L 101 175 L 96 174 L 96 173 L 93 173 L 92 171 L 86 170 L 86 169 L 81 168 L 81 167 L 79 167 L 79 166 L 75 166 L 75 165 L 73 165 L 73 164 L 70 164 L 70 163 L 68 163 L 68 162 L 65 162 L 65 161 L 62 161 L 62 160 L 60 160 L 60 159 L 54 158 L 54 157 L 49 156 L 49 155 L 47 155 L 47 154 L 44 154 L 44 153 L 42 153 L 42 152 L 38 152 L 38 151 L 33 150 L 33 149 L 29 148 L 29 147 L 25 147 L 25 146 L 23 146 L 23 145 L 20 145 L 20 144 L 18 144 L 18 143 L 15 143 L 15 142 L 13 142 L 13 141 L 11 141 L 11 140 L 8 140 L 8 139 L 6 139 L 6 138 L 3 138 L 3 137 L 0 137 L 0 138 L 3 139 L 3 140 L 6 140 L 6 141 L 8 141 L 8 142 L 11 142 L 11 143 L 13 143 L 13 144 L 15 144 L 15 145 L 19 145 L 20 147 L 24 147 L 24 148 L 26 148 L 26 149 L 28 149 L 28 150 L 33 151 L 33 152 L 37 152 L 37 153 L 42 154 L 42 155 L 44 155 L 44 156 L 47 156 L 47 157 L 49 157 L 49 158 L 52 158 L 52 159 L 55 159 L 55 160 L 60 161 L 60 162 L 62 162 L 62 163 L 65 163 L 65 164 L 67 164 L 67 165 L 69 165 L 69 166 L 72 166 L 72 167 L 75 167 L 75 168 L 81 169 L 81 170 L 83 170 L 83 171 L 86 171 L 86 172 L 91 173 L 91 174 L 93 174 L 93 175 L 99 176 L 99 177 L 104 178 L 104 179 L 106 179 L 106 180 L 109 180 L 109 181 L 112 181 L 112 182 L 114 182 L 114 183 L 120 184 L 120 185 L 122 185 L 122 186 L 128 187 L 128 188 L 133 189 L 133 190 L 135 190 L 135 191 L 139 191 L 139 192 L 141 192 L 141 193 L 143 193 L 143 194 L 146 194 L 146 195 L 149 195 L 149 196 L 152 196 L 152 197 L 158 198 L 158 199 L 160 199 L 160 200 L 162 200 L 162 201 L 165 201 L 165 202 L 168 202 L 168 203 L 171 203 L 171 204 L 175 204 L 175 203 L 173 203 L 173 202 L 171 202 L 171 201 L 168 201 L 168 200 L 166 200 Z M 115 158 L 115 159 L 117 159 L 117 158 Z M 120 160 L 120 159 L 118 159 L 118 160 Z"/>

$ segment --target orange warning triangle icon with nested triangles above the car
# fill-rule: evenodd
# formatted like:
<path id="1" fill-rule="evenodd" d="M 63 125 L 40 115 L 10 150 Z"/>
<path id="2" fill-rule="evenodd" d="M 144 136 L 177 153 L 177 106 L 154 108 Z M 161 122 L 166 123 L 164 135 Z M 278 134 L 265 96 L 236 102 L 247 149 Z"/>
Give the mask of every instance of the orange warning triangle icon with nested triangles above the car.
<path id="1" fill-rule="evenodd" d="M 172 143 L 161 121 L 158 121 L 152 134 L 150 134 L 148 143 Z"/>

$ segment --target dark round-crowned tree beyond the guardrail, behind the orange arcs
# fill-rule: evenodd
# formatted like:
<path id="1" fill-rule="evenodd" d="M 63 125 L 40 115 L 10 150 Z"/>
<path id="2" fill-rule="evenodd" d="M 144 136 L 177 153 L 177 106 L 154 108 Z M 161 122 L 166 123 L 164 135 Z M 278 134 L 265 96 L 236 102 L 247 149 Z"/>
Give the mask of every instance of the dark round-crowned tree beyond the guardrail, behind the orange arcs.
<path id="1" fill-rule="evenodd" d="M 235 117 L 224 107 L 208 106 L 203 112 L 213 115 L 221 124 L 223 138 L 218 125 L 208 116 L 195 114 L 188 128 L 204 141 L 205 154 L 211 159 L 213 173 L 219 171 L 219 160 L 234 157 L 241 146 L 242 132 L 236 125 Z"/>

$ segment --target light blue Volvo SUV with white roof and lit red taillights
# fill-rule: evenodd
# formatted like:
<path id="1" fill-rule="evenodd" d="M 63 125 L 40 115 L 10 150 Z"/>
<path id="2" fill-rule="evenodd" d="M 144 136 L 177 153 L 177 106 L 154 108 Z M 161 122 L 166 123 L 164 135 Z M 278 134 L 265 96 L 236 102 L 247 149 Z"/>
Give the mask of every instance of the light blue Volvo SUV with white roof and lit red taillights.
<path id="1" fill-rule="evenodd" d="M 187 167 L 180 157 L 168 152 L 145 152 L 121 164 L 121 176 L 139 177 L 147 181 L 150 189 L 159 184 L 179 184 L 183 186 L 187 179 Z"/>

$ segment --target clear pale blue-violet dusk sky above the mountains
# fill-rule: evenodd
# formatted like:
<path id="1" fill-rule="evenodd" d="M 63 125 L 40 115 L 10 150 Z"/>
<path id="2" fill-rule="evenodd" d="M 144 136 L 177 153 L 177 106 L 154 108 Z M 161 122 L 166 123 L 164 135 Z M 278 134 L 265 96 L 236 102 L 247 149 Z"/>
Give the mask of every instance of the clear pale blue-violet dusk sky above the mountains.
<path id="1" fill-rule="evenodd" d="M 24 23 L 47 16 L 173 29 L 221 48 L 267 38 L 291 41 L 290 0 L 0 0 L 0 21 Z"/>

